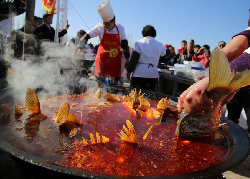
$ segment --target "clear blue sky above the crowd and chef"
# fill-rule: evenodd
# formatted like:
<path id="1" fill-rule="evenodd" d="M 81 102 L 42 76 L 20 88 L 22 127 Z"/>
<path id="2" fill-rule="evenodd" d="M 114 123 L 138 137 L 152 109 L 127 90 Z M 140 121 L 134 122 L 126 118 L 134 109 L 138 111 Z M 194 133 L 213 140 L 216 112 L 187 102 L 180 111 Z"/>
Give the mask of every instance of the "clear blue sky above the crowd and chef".
<path id="1" fill-rule="evenodd" d="M 70 0 L 87 25 L 92 28 L 102 19 L 97 12 L 101 0 Z M 233 35 L 247 28 L 249 0 L 111 0 L 116 21 L 125 27 L 129 44 L 141 39 L 144 26 L 152 25 L 156 40 L 171 44 L 175 49 L 181 41 L 195 40 L 195 44 L 208 44 L 214 49 L 219 41 L 228 43 Z M 42 0 L 36 0 L 35 15 L 44 14 Z M 79 15 L 68 3 L 68 37 L 80 29 L 88 31 Z M 55 27 L 56 16 L 53 25 Z M 89 42 L 97 44 L 97 39 Z"/>

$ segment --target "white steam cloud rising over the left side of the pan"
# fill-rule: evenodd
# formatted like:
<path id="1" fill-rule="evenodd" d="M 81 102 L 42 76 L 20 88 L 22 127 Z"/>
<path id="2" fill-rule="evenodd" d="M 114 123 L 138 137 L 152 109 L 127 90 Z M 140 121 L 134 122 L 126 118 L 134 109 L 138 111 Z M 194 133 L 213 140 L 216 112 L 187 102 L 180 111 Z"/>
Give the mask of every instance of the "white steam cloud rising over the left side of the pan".
<path id="1" fill-rule="evenodd" d="M 75 87 L 83 91 L 97 86 L 95 81 L 80 76 L 81 63 L 64 47 L 43 42 L 41 49 L 42 56 L 25 56 L 25 61 L 10 60 L 12 73 L 8 83 L 19 102 L 23 103 L 27 88 L 36 90 L 39 98 L 44 98 L 70 94 Z"/>

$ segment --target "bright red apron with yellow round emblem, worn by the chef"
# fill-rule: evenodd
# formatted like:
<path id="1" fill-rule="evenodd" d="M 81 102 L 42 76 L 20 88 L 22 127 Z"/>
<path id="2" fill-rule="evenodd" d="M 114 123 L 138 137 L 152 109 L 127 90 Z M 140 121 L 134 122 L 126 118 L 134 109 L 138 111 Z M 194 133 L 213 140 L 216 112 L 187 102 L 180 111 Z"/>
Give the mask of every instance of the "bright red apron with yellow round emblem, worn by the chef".
<path id="1" fill-rule="evenodd" d="M 108 34 L 104 29 L 101 43 L 95 61 L 95 76 L 120 77 L 121 76 L 121 41 L 118 34 Z"/>

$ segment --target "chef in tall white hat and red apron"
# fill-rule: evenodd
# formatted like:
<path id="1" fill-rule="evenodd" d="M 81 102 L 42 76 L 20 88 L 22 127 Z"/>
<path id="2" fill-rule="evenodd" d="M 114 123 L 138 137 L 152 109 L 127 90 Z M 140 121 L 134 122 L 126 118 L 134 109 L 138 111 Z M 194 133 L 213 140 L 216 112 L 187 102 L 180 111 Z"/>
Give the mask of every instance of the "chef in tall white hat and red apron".
<path id="1" fill-rule="evenodd" d="M 125 29 L 116 23 L 110 0 L 100 2 L 97 7 L 103 22 L 97 24 L 80 39 L 77 56 L 80 56 L 88 40 L 97 37 L 99 48 L 95 61 L 95 76 L 99 85 L 105 77 L 111 77 L 110 84 L 117 85 L 121 76 L 121 49 L 125 55 L 126 64 L 130 57 Z"/>

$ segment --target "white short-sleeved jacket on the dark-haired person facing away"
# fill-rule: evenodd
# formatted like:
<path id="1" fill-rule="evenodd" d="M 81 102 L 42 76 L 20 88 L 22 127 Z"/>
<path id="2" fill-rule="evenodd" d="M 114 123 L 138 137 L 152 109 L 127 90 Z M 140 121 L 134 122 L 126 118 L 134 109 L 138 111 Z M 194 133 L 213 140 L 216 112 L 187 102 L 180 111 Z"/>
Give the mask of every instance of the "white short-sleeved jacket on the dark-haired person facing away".
<path id="1" fill-rule="evenodd" d="M 140 54 L 140 58 L 132 77 L 158 78 L 158 62 L 160 56 L 166 54 L 164 45 L 153 37 L 144 37 L 135 43 L 134 51 Z"/>

